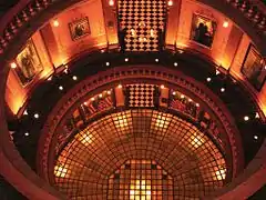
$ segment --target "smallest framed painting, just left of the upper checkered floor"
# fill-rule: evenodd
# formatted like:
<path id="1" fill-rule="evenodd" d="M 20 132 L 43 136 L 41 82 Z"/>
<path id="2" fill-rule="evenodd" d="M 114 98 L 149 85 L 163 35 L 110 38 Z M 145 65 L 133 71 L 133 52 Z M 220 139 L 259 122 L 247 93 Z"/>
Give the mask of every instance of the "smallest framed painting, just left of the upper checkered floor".
<path id="1" fill-rule="evenodd" d="M 72 40 L 78 40 L 91 33 L 89 19 L 86 17 L 69 23 L 69 29 Z"/>

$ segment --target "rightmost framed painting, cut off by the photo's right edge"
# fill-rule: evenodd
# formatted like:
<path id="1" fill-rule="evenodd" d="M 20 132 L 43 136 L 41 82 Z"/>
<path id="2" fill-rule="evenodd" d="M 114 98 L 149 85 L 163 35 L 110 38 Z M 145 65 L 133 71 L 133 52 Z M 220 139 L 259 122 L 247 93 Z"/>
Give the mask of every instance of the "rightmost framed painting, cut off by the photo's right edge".
<path id="1" fill-rule="evenodd" d="M 262 89 L 266 79 L 266 61 L 253 44 L 247 49 L 241 71 L 254 88 Z"/>

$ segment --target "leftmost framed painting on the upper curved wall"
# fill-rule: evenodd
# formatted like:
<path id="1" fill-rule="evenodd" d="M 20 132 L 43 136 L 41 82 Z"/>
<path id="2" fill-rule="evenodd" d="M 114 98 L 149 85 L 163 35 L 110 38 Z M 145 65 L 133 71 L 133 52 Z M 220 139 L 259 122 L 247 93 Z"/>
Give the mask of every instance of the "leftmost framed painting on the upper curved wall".
<path id="1" fill-rule="evenodd" d="M 43 70 L 40 57 L 31 39 L 17 56 L 16 62 L 18 64 L 16 71 L 22 86 L 29 83 L 35 77 L 35 74 Z"/>

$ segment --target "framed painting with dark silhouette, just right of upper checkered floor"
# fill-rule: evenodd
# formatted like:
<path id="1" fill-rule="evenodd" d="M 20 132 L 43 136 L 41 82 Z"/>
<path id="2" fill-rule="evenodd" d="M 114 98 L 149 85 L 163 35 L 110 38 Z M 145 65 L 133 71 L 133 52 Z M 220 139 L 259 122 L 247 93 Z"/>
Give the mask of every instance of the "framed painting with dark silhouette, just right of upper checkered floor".
<path id="1" fill-rule="evenodd" d="M 211 48 L 217 24 L 215 21 L 194 13 L 192 19 L 191 40 Z"/>

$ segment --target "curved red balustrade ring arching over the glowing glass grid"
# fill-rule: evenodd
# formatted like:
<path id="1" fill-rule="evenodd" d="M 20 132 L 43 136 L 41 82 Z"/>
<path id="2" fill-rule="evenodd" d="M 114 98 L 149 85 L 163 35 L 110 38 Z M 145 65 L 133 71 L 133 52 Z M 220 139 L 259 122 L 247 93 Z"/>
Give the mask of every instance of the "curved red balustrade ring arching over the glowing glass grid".
<path id="1" fill-rule="evenodd" d="M 131 68 L 116 68 L 115 70 L 111 69 L 88 78 L 86 80 L 76 84 L 71 91 L 69 91 L 54 107 L 47 120 L 45 126 L 41 131 L 41 140 L 39 143 L 40 154 L 38 163 L 40 170 L 39 173 L 43 176 L 47 180 L 49 180 L 49 148 L 53 139 L 53 133 L 55 132 L 57 127 L 60 124 L 61 119 L 76 102 L 81 101 L 84 96 L 88 96 L 88 93 L 100 87 L 105 86 L 106 83 L 109 83 L 110 86 L 115 82 L 119 83 L 122 80 L 137 80 L 140 78 L 164 81 L 175 87 L 182 88 L 183 90 L 201 99 L 203 103 L 211 109 L 211 111 L 217 117 L 218 121 L 222 123 L 228 137 L 233 157 L 232 174 L 233 177 L 236 177 L 236 174 L 243 169 L 243 148 L 238 130 L 234 124 L 234 120 L 227 111 L 226 107 L 203 84 L 200 84 L 191 78 L 185 77 L 184 74 L 181 74 L 176 71 L 154 66 L 133 66 Z"/>

